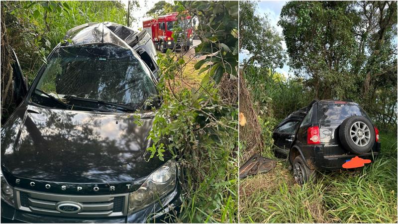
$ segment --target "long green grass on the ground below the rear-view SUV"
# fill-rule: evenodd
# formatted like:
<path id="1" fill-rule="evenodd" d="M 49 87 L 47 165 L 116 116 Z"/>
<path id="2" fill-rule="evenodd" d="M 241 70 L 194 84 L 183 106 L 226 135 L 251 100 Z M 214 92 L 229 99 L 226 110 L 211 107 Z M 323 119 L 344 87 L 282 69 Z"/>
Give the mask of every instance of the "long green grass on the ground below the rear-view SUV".
<path id="1" fill-rule="evenodd" d="M 241 180 L 240 222 L 397 223 L 396 133 L 381 133 L 381 143 L 375 163 L 318 173 L 316 183 L 295 184 L 286 160 L 269 173 Z"/>

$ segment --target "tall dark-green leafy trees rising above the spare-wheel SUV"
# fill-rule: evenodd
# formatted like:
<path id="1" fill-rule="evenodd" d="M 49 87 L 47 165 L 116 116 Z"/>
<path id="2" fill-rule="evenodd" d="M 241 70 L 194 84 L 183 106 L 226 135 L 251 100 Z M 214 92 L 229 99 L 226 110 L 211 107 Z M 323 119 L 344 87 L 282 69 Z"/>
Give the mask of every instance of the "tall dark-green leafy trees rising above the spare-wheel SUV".
<path id="1" fill-rule="evenodd" d="M 314 98 L 350 99 L 397 128 L 397 2 L 291 1 L 279 24 Z"/>

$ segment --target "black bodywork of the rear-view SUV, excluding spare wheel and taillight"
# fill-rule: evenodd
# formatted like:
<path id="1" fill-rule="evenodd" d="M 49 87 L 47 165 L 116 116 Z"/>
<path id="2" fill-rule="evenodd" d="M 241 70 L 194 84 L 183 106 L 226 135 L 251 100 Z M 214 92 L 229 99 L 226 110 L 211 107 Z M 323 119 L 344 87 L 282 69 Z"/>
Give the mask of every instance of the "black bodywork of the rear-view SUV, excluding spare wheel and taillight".
<path id="1" fill-rule="evenodd" d="M 330 109 L 328 105 L 344 105 L 350 109 L 347 113 L 330 112 L 338 114 L 336 117 L 322 120 L 322 114 Z M 352 107 L 352 108 L 351 108 Z M 307 107 L 291 113 L 287 118 L 280 122 L 273 131 L 275 150 L 285 152 L 289 161 L 293 164 L 295 156 L 300 155 L 306 165 L 318 170 L 337 170 L 342 169 L 342 165 L 357 156 L 346 150 L 339 140 L 339 126 L 347 116 L 362 115 L 370 120 L 360 106 L 352 102 L 339 102 L 331 100 L 312 101 Z M 294 130 L 290 133 L 280 132 L 278 129 L 289 123 L 298 122 Z M 307 144 L 308 127 L 318 126 L 320 143 Z M 380 142 L 375 142 L 370 152 L 360 155 L 363 159 L 370 159 L 372 162 L 380 153 Z"/>

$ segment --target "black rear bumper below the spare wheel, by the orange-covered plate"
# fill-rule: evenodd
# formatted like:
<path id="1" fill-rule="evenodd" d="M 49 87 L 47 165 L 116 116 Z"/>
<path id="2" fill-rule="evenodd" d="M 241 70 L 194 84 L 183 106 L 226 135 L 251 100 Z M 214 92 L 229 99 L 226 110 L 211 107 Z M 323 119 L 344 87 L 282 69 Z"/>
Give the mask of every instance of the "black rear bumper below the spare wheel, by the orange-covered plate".
<path id="1" fill-rule="evenodd" d="M 341 154 L 341 155 L 324 155 L 322 146 L 312 146 L 313 154 L 311 156 L 311 161 L 308 162 L 308 158 L 305 158 L 309 165 L 314 166 L 317 170 L 339 170 L 343 169 L 342 166 L 348 160 L 351 160 L 355 156 L 362 159 L 370 159 L 372 163 L 375 161 L 376 157 L 380 153 L 380 143 L 376 142 L 373 150 L 362 155 L 356 154 Z M 307 149 L 306 149 L 307 150 Z"/>

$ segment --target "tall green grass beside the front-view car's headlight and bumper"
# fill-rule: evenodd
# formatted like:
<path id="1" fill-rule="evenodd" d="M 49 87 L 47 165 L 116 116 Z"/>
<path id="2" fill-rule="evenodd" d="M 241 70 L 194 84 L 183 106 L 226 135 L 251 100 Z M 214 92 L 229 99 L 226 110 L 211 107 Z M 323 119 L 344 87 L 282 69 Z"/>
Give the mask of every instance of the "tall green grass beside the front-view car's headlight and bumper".
<path id="1" fill-rule="evenodd" d="M 188 195 L 184 197 L 184 206 L 178 221 L 183 223 L 238 222 L 236 137 L 237 134 L 232 134 L 226 138 L 224 147 L 206 146 L 206 153 L 199 153 L 198 161 L 187 161 L 191 164 L 190 169 L 187 170 Z M 200 183 L 198 183 L 199 179 L 202 179 Z"/>

